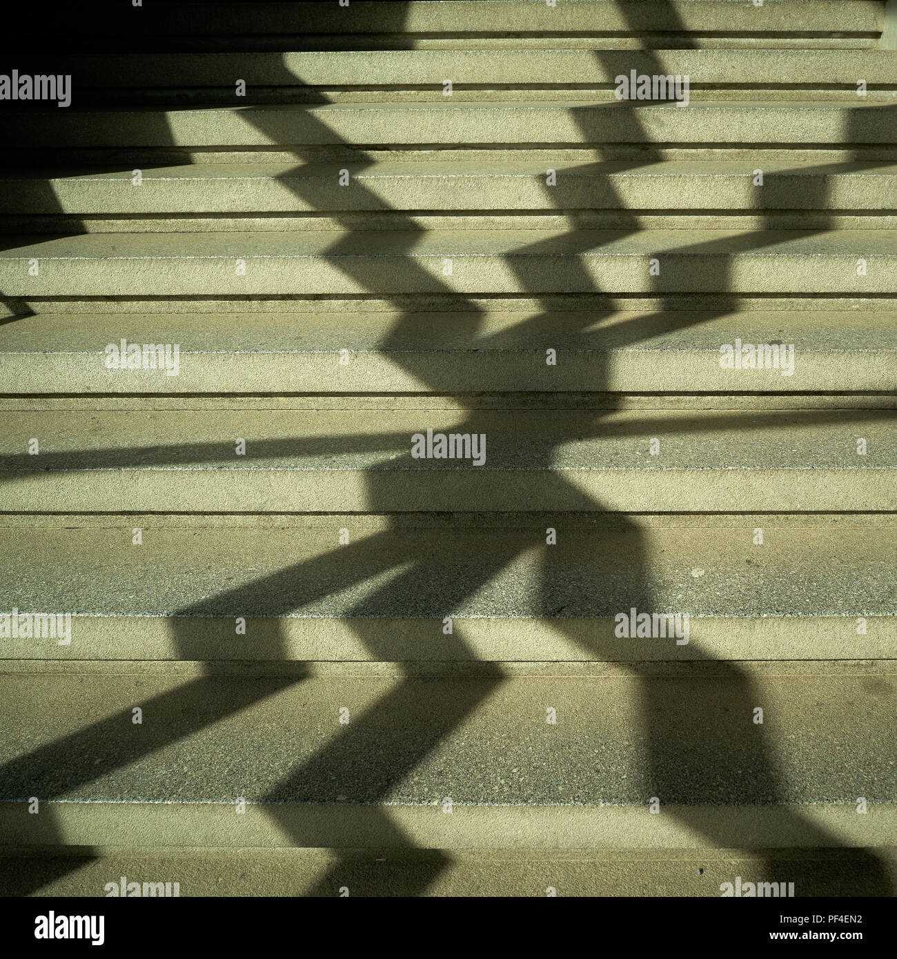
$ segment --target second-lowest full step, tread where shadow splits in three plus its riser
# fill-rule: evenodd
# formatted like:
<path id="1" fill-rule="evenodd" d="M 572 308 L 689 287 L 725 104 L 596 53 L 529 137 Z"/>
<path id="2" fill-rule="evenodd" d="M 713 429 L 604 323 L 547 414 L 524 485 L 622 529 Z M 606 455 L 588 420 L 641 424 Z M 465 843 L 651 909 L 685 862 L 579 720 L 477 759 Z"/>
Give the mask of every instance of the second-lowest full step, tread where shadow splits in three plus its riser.
<path id="1" fill-rule="evenodd" d="M 63 619 L 15 636 L 10 620 L 0 659 L 7 671 L 251 660 L 288 674 L 893 659 L 895 564 L 897 523 L 881 515 L 7 515 L 0 614 Z M 679 619 L 651 636 L 641 613 Z"/>

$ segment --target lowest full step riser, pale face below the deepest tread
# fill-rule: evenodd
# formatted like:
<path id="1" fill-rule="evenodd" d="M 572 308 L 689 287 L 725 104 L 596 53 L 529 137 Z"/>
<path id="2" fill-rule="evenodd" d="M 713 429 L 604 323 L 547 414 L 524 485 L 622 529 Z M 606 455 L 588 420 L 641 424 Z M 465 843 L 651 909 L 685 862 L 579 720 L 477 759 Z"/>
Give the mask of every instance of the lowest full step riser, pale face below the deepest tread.
<path id="1" fill-rule="evenodd" d="M 134 836 L 139 836 L 137 849 L 145 855 L 186 853 L 190 847 L 224 851 L 237 846 L 265 854 L 346 847 L 356 854 L 361 850 L 389 850 L 390 859 L 415 848 L 420 854 L 444 850 L 448 856 L 456 851 L 476 854 L 479 850 L 485 856 L 489 851 L 500 851 L 511 860 L 535 850 L 548 862 L 566 850 L 578 850 L 578 856 L 628 854 L 632 858 L 651 854 L 663 858 L 668 851 L 688 851 L 711 859 L 739 850 L 754 854 L 775 854 L 778 850 L 779 855 L 790 850 L 791 856 L 803 858 L 804 850 L 813 850 L 816 855 L 824 850 L 850 855 L 844 847 L 862 848 L 878 840 L 877 844 L 885 848 L 876 854 L 884 854 L 885 861 L 893 861 L 894 856 L 893 850 L 887 849 L 889 835 L 893 834 L 887 830 L 894 829 L 893 809 L 871 802 L 864 816 L 857 814 L 852 802 L 844 806 L 795 805 L 791 809 L 661 804 L 661 813 L 649 819 L 647 799 L 644 806 L 602 808 L 527 809 L 463 806 L 456 802 L 452 813 L 446 814 L 439 805 L 442 798 L 434 793 L 434 800 L 423 807 L 275 807 L 247 802 L 247 811 L 239 819 L 230 796 L 222 804 L 203 805 L 181 801 L 152 806 L 88 806 L 44 800 L 41 813 L 31 816 L 25 804 L 3 804 L 0 822 L 10 837 L 4 850 L 7 854 L 13 849 L 19 854 L 46 854 L 49 843 L 59 844 L 63 854 L 70 852 L 65 847 L 74 848 L 71 851 L 79 847 L 85 851 L 86 847 L 101 855 L 121 854 L 123 849 L 133 848 Z M 195 842 L 191 842 L 191 836 Z M 862 859 L 862 849 L 857 855 Z M 865 862 L 870 864 L 870 854 L 866 854 Z M 728 877 L 729 881 L 735 875 Z M 113 874 L 109 879 L 117 881 L 120 876 Z"/>

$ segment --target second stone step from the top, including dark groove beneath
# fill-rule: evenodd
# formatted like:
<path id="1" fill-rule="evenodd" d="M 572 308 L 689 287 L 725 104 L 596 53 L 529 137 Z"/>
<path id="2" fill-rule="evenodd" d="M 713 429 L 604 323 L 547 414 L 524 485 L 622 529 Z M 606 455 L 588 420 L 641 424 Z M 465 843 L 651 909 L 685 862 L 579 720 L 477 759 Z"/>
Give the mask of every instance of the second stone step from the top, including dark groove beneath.
<path id="1" fill-rule="evenodd" d="M 556 91 L 571 100 L 612 99 L 618 78 L 628 79 L 632 70 L 649 77 L 687 76 L 695 99 L 825 99 L 840 89 L 856 101 L 897 87 L 893 55 L 884 50 L 130 53 L 48 58 L 33 64 L 32 72 L 71 75 L 73 103 L 83 106 L 125 100 L 248 105 L 275 97 L 294 103 L 442 100 L 446 80 L 456 100 L 526 99 L 538 97 L 540 87 L 555 99 Z M 245 84 L 239 98 L 238 80 Z"/>

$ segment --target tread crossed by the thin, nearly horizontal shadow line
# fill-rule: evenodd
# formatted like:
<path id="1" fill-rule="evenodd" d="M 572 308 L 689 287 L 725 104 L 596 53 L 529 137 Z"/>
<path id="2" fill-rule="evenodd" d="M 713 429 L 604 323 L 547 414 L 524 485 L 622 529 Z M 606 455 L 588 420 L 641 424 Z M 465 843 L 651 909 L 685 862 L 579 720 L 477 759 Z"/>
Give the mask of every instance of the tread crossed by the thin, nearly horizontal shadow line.
<path id="1" fill-rule="evenodd" d="M 163 374 L 164 375 L 164 374 Z M 389 404 L 389 400 L 387 400 Z M 45 410 L 0 412 L 4 472 L 260 468 L 424 472 L 480 469 L 468 459 L 415 459 L 412 435 L 485 433 L 488 470 L 840 470 L 897 468 L 893 409 L 419 409 Z M 41 437 L 40 453 L 25 447 Z M 868 439 L 858 456 L 854 437 Z M 177 436 L 177 443 L 159 442 Z M 247 440 L 235 456 L 231 437 Z M 648 455 L 648 440 L 663 455 Z M 24 437 L 24 438 L 23 438 Z M 753 441 L 750 441 L 753 440 Z M 11 478 L 12 479 L 12 478 Z M 49 478 L 48 478 L 49 482 Z"/>

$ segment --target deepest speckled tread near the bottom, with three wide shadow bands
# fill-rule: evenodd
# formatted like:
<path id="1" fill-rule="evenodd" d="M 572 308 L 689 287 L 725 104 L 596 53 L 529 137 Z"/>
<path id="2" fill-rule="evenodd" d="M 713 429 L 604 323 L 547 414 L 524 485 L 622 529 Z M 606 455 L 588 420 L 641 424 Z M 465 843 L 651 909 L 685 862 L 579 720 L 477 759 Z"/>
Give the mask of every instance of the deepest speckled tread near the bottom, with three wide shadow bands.
<path id="1" fill-rule="evenodd" d="M 20 803 L 34 795 L 362 805 L 445 797 L 489 806 L 646 807 L 651 796 L 685 806 L 892 802 L 893 672 L 718 669 L 712 677 L 581 679 L 508 679 L 496 670 L 448 682 L 2 676 L 9 720 L 0 731 L 8 758 L 0 794 Z M 134 707 L 143 711 L 140 725 Z"/>

